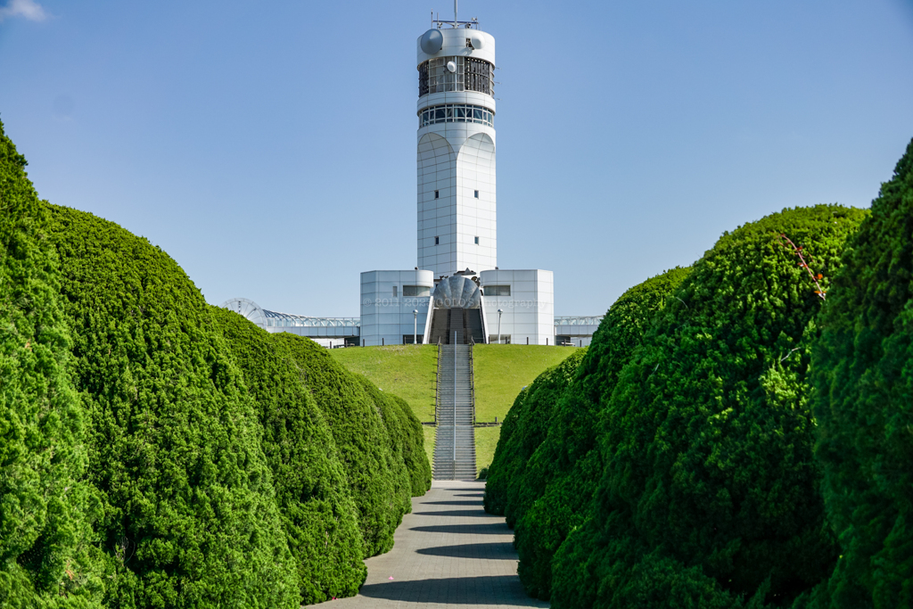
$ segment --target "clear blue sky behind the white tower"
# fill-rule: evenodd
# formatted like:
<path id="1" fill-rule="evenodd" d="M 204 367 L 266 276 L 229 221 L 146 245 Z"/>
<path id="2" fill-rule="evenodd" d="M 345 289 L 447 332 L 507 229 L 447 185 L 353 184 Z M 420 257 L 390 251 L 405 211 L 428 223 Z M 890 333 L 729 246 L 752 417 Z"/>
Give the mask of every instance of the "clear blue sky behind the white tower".
<path id="1" fill-rule="evenodd" d="M 4 5 L 0 120 L 43 198 L 214 304 L 353 316 L 361 271 L 415 266 L 415 38 L 452 3 Z M 913 137 L 913 0 L 460 15 L 498 40 L 498 265 L 553 270 L 557 314 L 785 206 L 867 206 Z"/>

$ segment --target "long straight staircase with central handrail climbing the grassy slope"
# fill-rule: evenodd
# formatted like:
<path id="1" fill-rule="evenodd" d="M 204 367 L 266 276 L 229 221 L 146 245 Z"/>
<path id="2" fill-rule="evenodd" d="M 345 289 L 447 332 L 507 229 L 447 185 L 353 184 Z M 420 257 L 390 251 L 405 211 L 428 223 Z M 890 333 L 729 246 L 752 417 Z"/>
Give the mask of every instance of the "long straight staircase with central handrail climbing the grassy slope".
<path id="1" fill-rule="evenodd" d="M 455 332 L 455 344 L 438 348 L 434 472 L 438 480 L 474 480 L 476 399 L 472 380 L 472 345 L 461 344 L 462 331 Z"/>

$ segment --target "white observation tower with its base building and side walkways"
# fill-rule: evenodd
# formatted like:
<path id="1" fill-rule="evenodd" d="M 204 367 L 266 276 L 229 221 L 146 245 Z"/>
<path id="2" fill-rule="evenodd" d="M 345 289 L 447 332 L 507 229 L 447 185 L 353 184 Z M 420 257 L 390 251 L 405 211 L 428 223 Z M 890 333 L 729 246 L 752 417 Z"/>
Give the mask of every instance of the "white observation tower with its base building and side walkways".
<path id="1" fill-rule="evenodd" d="M 498 268 L 495 38 L 477 19 L 458 21 L 455 2 L 453 21 L 432 20 L 416 47 L 418 265 L 363 272 L 359 318 L 288 315 L 247 299 L 223 306 L 334 347 L 589 344 L 594 318 L 585 327 L 561 318 L 559 337 L 550 270 Z"/>

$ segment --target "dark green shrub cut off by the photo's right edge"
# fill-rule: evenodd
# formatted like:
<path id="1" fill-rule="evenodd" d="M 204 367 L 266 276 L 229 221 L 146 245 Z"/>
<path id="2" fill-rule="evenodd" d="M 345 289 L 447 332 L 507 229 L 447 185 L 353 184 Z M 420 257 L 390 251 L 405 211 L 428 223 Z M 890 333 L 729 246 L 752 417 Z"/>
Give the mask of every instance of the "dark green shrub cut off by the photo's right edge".
<path id="1" fill-rule="evenodd" d="M 913 606 L 913 142 L 848 242 L 813 352 L 816 456 L 842 556 L 818 607 Z"/>

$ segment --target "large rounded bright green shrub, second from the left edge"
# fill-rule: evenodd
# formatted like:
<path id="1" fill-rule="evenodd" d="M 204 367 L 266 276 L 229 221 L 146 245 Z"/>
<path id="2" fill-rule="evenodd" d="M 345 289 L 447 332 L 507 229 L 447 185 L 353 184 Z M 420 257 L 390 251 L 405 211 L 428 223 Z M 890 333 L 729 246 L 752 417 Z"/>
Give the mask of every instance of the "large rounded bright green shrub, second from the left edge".
<path id="1" fill-rule="evenodd" d="M 106 604 L 298 606 L 257 413 L 203 296 L 145 239 L 50 209 Z"/>

